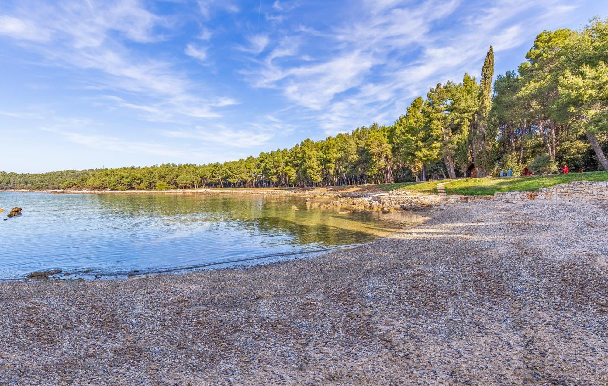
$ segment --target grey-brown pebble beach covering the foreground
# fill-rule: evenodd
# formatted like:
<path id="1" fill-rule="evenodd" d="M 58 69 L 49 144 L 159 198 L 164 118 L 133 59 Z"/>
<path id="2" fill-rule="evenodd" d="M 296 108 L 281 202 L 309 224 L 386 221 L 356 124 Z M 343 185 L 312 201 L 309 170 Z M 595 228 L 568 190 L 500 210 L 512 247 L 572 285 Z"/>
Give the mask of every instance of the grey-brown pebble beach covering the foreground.
<path id="1" fill-rule="evenodd" d="M 0 385 L 608 384 L 608 203 L 441 209 L 313 259 L 0 283 Z"/>

